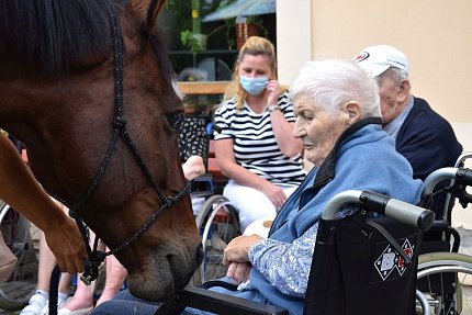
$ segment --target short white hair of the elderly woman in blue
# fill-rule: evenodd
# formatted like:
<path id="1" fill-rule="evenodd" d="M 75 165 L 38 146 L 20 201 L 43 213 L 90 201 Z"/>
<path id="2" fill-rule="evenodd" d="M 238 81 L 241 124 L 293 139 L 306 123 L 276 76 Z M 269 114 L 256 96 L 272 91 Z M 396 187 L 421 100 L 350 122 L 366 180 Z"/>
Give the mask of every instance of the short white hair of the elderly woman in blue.
<path id="1" fill-rule="evenodd" d="M 362 119 L 382 116 L 375 80 L 351 60 L 306 63 L 289 92 L 292 100 L 303 95 L 331 114 L 337 114 L 349 101 L 356 101 Z"/>

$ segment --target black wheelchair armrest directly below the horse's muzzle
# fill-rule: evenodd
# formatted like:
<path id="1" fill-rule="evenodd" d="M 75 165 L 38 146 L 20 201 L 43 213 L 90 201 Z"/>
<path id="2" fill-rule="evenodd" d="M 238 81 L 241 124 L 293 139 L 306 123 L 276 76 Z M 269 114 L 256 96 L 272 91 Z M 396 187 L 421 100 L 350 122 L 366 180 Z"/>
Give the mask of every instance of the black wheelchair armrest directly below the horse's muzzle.
<path id="1" fill-rule="evenodd" d="M 257 303 L 201 288 L 188 286 L 180 294 L 178 304 L 198 310 L 227 315 L 288 315 L 279 306 Z"/>

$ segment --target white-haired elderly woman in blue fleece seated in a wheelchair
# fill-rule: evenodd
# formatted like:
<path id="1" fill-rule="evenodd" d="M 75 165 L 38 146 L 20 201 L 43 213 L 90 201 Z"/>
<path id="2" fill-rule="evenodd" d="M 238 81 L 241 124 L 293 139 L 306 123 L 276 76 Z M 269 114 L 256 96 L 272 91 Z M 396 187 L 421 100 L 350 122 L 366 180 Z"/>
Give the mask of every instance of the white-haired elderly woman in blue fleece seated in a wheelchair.
<path id="1" fill-rule="evenodd" d="M 349 189 L 418 203 L 423 183 L 413 179 L 408 161 L 382 131 L 377 82 L 352 61 L 308 63 L 290 97 L 296 116 L 294 137 L 302 140 L 305 157 L 315 167 L 278 213 L 268 238 L 240 236 L 226 247 L 228 281 L 245 285 L 237 292 L 212 290 L 302 314 L 326 203 Z M 353 206 L 346 207 L 339 215 L 352 211 Z"/>

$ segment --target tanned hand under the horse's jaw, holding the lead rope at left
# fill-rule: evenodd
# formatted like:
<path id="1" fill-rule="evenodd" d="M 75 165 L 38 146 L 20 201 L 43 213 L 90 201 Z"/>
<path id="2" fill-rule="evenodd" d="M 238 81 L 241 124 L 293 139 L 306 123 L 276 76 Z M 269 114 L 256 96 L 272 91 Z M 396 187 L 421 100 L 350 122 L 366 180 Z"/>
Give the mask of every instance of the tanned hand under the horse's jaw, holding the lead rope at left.
<path id="1" fill-rule="evenodd" d="M 83 271 L 87 251 L 76 223 L 64 213 L 50 228 L 44 230 L 46 243 L 56 257 L 60 271 L 78 273 Z"/>

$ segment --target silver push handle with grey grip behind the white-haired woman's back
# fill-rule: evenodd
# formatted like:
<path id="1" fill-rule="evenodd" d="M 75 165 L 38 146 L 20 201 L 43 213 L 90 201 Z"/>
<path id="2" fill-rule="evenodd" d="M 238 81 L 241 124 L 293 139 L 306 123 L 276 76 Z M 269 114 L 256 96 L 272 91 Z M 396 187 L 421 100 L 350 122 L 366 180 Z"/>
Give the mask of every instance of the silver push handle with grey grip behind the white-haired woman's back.
<path id="1" fill-rule="evenodd" d="M 416 226 L 422 230 L 428 230 L 435 220 L 435 213 L 430 210 L 377 192 L 359 190 L 347 190 L 336 194 L 326 204 L 322 218 L 334 220 L 336 213 L 346 204 L 357 204 L 364 210 L 390 216 L 406 225 Z"/>

